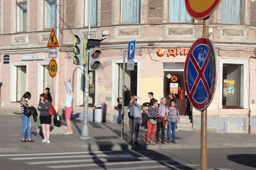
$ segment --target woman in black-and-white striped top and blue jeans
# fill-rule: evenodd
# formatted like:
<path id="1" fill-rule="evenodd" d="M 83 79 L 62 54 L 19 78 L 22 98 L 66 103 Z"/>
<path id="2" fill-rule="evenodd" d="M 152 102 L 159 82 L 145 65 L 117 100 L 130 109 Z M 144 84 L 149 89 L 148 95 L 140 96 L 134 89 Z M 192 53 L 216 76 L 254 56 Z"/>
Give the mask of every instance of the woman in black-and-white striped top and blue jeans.
<path id="1" fill-rule="evenodd" d="M 28 142 L 34 142 L 31 139 L 31 120 L 30 116 L 27 116 L 26 113 L 24 113 L 26 107 L 31 108 L 31 106 L 28 104 L 29 99 L 31 98 L 30 92 L 25 92 L 24 95 L 21 97 L 21 102 L 20 102 L 20 108 L 21 108 L 21 114 L 20 117 L 22 119 L 22 134 L 21 134 L 21 142 L 26 142 L 25 139 L 25 132 L 26 130 L 28 131 Z"/>

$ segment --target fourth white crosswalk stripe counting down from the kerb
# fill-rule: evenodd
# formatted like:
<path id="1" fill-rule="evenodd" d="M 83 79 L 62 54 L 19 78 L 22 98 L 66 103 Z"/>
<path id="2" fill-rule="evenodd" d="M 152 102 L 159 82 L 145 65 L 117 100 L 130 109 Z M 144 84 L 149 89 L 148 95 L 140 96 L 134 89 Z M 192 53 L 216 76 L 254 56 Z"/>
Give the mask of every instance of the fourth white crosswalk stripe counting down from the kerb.
<path id="1" fill-rule="evenodd" d="M 72 168 L 72 167 L 90 167 L 90 166 L 115 166 L 115 165 L 129 165 L 129 164 L 147 164 L 147 163 L 160 163 L 160 162 L 174 162 L 174 160 L 141 160 L 131 162 L 107 162 L 98 164 L 76 164 L 76 165 L 64 165 L 64 166 L 46 166 L 52 169 L 59 168 Z"/>

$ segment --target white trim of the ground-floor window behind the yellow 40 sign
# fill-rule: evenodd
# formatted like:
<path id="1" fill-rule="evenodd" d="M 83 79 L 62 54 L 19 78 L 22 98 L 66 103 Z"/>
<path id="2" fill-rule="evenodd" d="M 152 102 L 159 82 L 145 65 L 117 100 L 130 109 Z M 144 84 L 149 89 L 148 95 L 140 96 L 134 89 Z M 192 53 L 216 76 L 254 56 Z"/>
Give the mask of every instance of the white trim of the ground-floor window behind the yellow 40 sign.
<path id="1" fill-rule="evenodd" d="M 44 93 L 44 66 L 48 66 L 49 61 L 38 61 L 37 62 L 37 76 L 38 76 L 38 84 L 37 84 L 37 96 Z"/>

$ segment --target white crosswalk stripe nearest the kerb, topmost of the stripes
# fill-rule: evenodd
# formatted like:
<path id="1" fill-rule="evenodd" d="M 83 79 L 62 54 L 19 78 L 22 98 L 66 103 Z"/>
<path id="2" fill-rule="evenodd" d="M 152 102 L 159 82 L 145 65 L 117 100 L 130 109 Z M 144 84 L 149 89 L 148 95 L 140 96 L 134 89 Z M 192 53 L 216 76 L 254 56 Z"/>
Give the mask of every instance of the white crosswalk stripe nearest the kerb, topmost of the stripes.
<path id="1" fill-rule="evenodd" d="M 28 153 L 28 154 L 8 154 L 0 155 L 0 157 L 16 157 L 16 156 L 36 156 L 36 155 L 69 155 L 80 153 L 111 153 L 113 151 L 88 151 L 88 152 L 61 152 L 61 153 Z"/>

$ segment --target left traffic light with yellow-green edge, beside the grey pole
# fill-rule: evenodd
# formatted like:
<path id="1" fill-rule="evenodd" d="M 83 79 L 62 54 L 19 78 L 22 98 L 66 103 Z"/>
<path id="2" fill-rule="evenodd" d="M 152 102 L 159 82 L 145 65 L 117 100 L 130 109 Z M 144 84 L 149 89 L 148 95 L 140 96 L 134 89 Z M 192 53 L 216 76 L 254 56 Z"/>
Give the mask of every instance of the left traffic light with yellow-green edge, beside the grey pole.
<path id="1" fill-rule="evenodd" d="M 84 38 L 83 34 L 76 34 L 74 36 L 74 59 L 73 63 L 76 65 L 85 64 L 85 55 L 84 55 Z"/>

